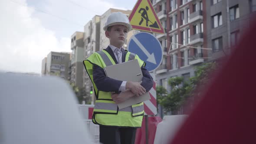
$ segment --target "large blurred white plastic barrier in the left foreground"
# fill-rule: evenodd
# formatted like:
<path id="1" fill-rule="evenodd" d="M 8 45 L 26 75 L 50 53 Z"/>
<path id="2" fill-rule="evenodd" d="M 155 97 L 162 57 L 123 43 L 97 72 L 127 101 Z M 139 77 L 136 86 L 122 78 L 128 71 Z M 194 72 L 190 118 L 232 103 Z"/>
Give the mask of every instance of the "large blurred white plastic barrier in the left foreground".
<path id="1" fill-rule="evenodd" d="M 69 84 L 0 73 L 0 144 L 92 144 Z"/>

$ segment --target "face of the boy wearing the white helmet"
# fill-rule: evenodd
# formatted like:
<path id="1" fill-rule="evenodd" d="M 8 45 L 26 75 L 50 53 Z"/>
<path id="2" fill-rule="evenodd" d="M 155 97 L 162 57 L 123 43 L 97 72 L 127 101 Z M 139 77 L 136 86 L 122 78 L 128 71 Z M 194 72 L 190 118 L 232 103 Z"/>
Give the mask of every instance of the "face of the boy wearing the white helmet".
<path id="1" fill-rule="evenodd" d="M 109 38 L 110 44 L 118 48 L 125 44 L 127 38 L 128 28 L 123 25 L 114 25 L 110 31 L 105 31 L 106 37 Z"/>

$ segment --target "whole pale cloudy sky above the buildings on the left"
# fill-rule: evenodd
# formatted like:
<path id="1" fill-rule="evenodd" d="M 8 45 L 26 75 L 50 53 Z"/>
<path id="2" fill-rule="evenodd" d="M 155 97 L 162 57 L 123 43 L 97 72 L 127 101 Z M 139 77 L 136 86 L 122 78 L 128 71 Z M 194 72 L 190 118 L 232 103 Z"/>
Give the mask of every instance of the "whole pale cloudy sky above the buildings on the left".
<path id="1" fill-rule="evenodd" d="M 51 51 L 71 52 L 70 36 L 110 8 L 137 0 L 0 0 L 0 72 L 41 73 Z"/>

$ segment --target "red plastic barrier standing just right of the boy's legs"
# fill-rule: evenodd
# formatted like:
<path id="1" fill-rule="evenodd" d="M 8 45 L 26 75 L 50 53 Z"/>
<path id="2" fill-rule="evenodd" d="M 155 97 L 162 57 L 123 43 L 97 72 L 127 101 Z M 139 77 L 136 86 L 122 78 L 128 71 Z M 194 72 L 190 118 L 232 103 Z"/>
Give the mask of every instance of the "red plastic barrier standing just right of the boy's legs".
<path id="1" fill-rule="evenodd" d="M 160 117 L 148 117 L 148 144 L 154 143 L 157 126 L 161 121 Z M 143 118 L 141 128 L 137 129 L 135 144 L 146 144 L 145 118 Z"/>

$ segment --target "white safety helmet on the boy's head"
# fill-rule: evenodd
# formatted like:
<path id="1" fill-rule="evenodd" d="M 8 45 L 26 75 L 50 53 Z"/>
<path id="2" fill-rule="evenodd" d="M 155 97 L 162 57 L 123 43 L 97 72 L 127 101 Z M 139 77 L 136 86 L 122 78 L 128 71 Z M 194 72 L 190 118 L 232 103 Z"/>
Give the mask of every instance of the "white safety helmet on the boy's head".
<path id="1" fill-rule="evenodd" d="M 127 26 L 128 31 L 130 31 L 132 29 L 128 17 L 124 13 L 121 13 L 121 12 L 111 13 L 108 16 L 108 19 L 107 19 L 103 29 L 106 31 L 108 29 L 108 26 L 114 26 L 114 25 Z"/>

